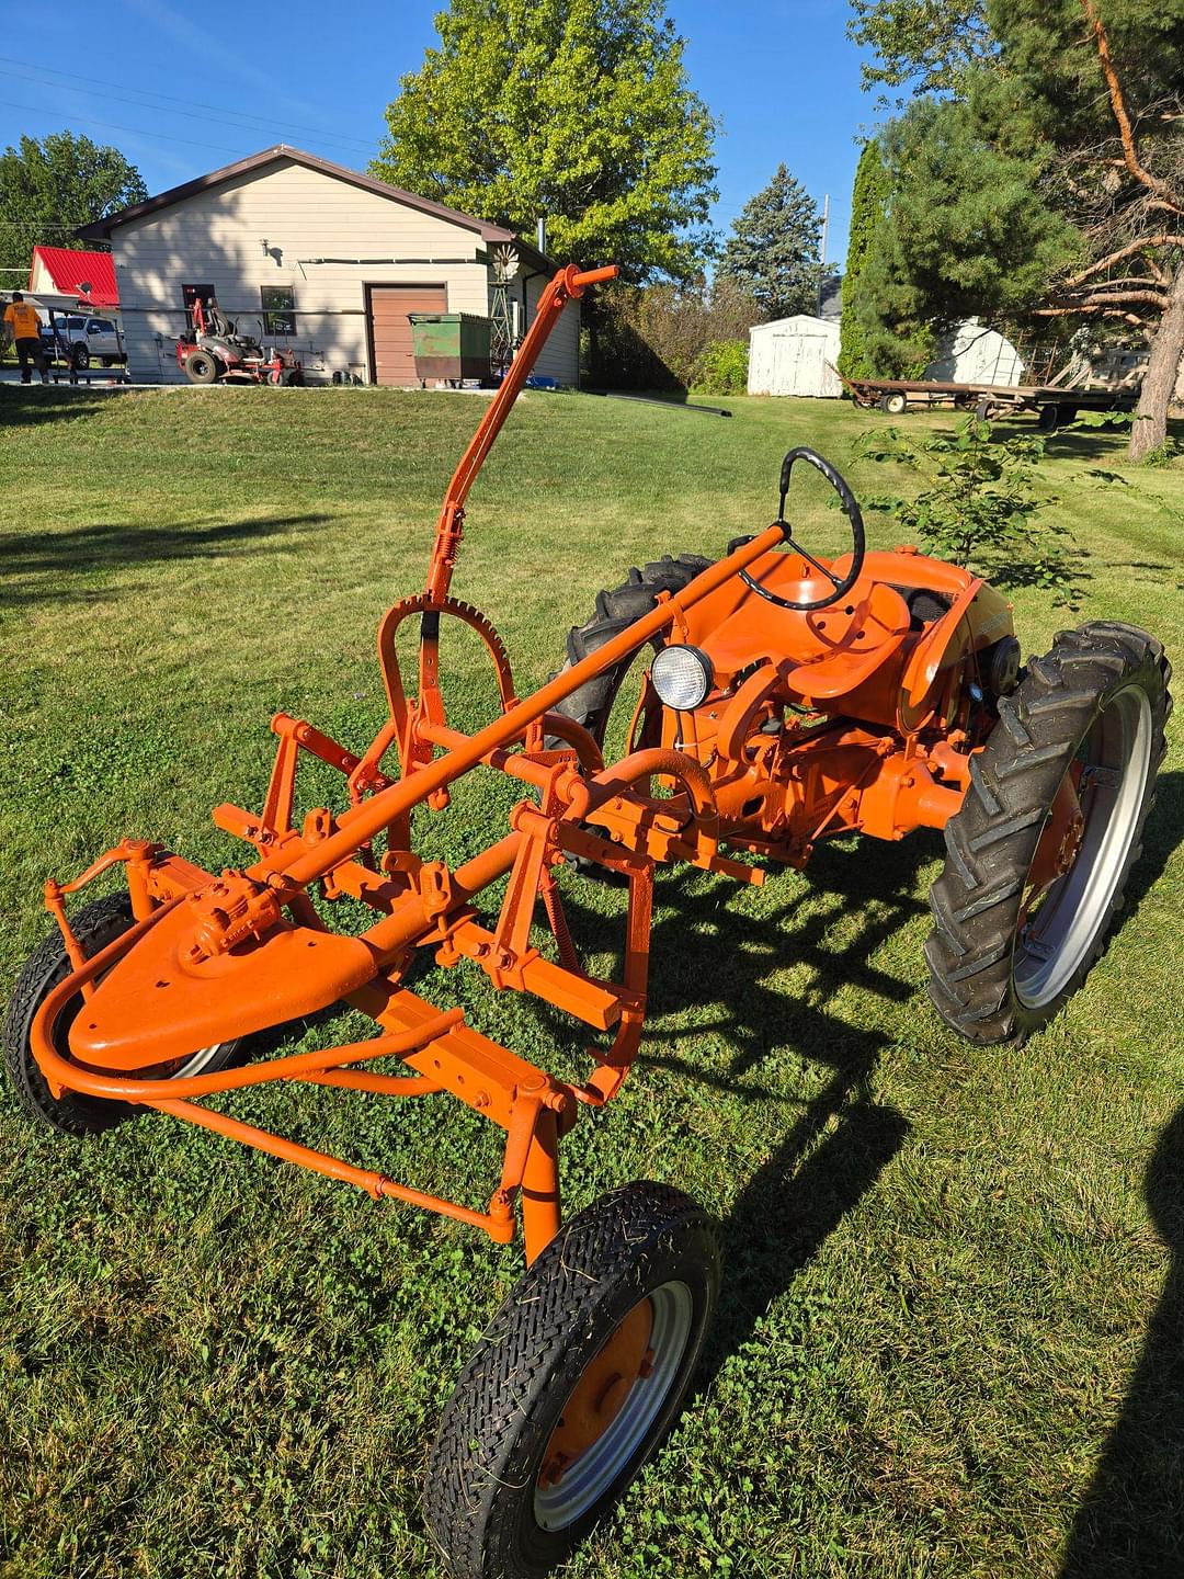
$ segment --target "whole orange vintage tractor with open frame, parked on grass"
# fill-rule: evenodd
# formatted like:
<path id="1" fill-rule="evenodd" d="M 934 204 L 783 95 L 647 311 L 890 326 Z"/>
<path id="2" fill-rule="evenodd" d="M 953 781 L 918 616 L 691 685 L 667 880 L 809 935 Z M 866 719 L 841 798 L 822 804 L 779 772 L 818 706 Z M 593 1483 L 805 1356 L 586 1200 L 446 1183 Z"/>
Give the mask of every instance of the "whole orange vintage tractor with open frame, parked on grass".
<path id="1" fill-rule="evenodd" d="M 450 592 L 464 502 L 564 305 L 613 273 L 565 268 L 545 291 L 448 488 L 426 587 L 379 625 L 390 706 L 377 736 L 355 753 L 278 714 L 262 810 L 213 812 L 254 848 L 240 870 L 215 875 L 126 838 L 71 883 L 47 883 L 57 930 L 8 1014 L 16 1090 L 68 1135 L 156 1108 L 499 1244 L 521 1211 L 526 1271 L 431 1457 L 428 1522 L 458 1579 L 537 1576 L 560 1562 L 669 1429 L 704 1344 L 720 1270 L 695 1202 L 633 1183 L 560 1217 L 559 1142 L 616 1096 L 638 1053 L 655 865 L 759 884 L 775 862 L 802 867 L 819 840 L 944 829 L 925 951 L 933 1001 L 974 1042 L 1021 1041 L 1103 947 L 1170 706 L 1160 644 L 1113 621 L 1062 632 L 1021 668 L 1002 597 L 914 549 L 867 551 L 859 505 L 811 450 L 786 455 L 770 526 L 715 562 L 631 572 L 571 632 L 565 668 L 518 696 L 494 627 Z M 786 507 L 802 466 L 822 474 L 846 516 L 840 557 L 792 535 Z M 418 622 L 414 699 L 396 658 L 404 621 Z M 500 690 L 500 712 L 475 734 L 445 715 L 445 621 L 477 632 Z M 606 764 L 608 717 L 639 654 L 628 745 Z M 297 818 L 309 756 L 341 774 L 343 794 Z M 412 812 L 444 815 L 450 786 L 477 767 L 523 786 L 505 835 L 455 868 L 422 859 Z M 68 913 L 68 895 L 115 864 L 126 891 Z M 628 887 L 620 981 L 581 968 L 556 881 L 564 864 Z M 502 880 L 500 903 L 483 910 L 483 891 Z M 341 898 L 369 906 L 373 925 L 333 930 Z M 412 992 L 422 951 L 586 1026 L 586 1077 L 534 1067 L 461 1009 Z M 377 1034 L 245 1061 L 254 1033 L 338 1003 L 365 1011 Z M 500 1176 L 483 1206 L 444 1200 L 202 1104 L 267 1080 L 450 1093 L 505 1132 Z"/>

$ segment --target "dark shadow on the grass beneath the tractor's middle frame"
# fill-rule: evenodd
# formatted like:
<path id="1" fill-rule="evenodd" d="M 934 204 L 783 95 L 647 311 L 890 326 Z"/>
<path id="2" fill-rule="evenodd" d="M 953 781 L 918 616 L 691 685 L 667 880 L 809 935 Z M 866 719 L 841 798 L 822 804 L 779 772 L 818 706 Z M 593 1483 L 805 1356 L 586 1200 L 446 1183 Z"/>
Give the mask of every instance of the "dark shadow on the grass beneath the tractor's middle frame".
<path id="1" fill-rule="evenodd" d="M 742 910 L 715 887 L 687 892 L 677 878 L 660 881 L 638 1064 L 751 1102 L 781 1102 L 792 1113 L 775 1151 L 747 1180 L 721 1224 L 726 1276 L 698 1391 L 710 1388 L 728 1356 L 751 1337 L 770 1303 L 792 1285 L 905 1143 L 908 1121 L 871 1090 L 876 1063 L 894 1039 L 851 1025 L 835 1000 L 856 987 L 906 1004 L 922 990 L 920 951 L 909 981 L 878 968 L 873 955 L 927 911 L 916 892 L 917 876 L 939 848 L 936 838 L 924 835 L 900 845 L 867 840 L 856 850 L 824 845 L 805 883 L 770 875 L 762 898 L 786 884 L 786 897 L 772 913 L 764 903 L 759 913 Z M 564 902 L 581 943 L 592 941 L 589 922 L 592 928 L 597 922 L 619 927 L 586 911 L 575 914 L 567 892 Z M 613 944 L 597 940 L 594 946 Z M 799 990 L 769 984 L 781 965 L 800 973 Z M 696 1018 L 688 1031 L 680 1011 L 704 1000 L 726 1007 L 714 1018 Z M 665 1023 L 668 1018 L 674 1023 Z M 725 1036 L 733 1047 L 726 1072 L 669 1050 L 671 1042 L 704 1033 Z M 766 1055 L 786 1045 L 829 1069 L 804 1102 L 753 1080 Z"/>

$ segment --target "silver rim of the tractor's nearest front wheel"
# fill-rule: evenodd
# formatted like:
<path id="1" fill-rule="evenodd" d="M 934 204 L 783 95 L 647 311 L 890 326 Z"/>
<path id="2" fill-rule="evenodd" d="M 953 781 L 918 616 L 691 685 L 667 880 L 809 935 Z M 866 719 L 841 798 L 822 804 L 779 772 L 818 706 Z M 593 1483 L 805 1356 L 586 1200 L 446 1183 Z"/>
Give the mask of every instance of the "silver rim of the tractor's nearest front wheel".
<path id="1" fill-rule="evenodd" d="M 534 1514 L 543 1530 L 565 1530 L 605 1495 L 638 1451 L 677 1380 L 695 1318 L 691 1292 L 685 1282 L 673 1281 L 654 1288 L 641 1303 L 649 1303 L 652 1320 L 647 1371 L 636 1377 L 603 1434 L 565 1465 L 556 1481 L 535 1486 Z M 631 1314 L 627 1312 L 624 1320 Z M 614 1336 L 616 1331 L 601 1350 Z M 571 1394 L 578 1386 L 579 1382 Z M 543 1454 L 545 1464 L 548 1454 L 549 1446 Z"/>

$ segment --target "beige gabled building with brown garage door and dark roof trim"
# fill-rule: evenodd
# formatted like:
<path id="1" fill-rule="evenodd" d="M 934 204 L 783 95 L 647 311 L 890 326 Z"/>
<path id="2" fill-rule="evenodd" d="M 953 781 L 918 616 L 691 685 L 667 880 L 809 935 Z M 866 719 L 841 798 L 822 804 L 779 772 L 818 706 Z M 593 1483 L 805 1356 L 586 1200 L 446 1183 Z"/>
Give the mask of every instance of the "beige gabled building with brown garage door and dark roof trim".
<path id="1" fill-rule="evenodd" d="M 409 313 L 488 316 L 493 254 L 515 259 L 508 300 L 530 322 L 553 264 L 510 231 L 284 145 L 212 171 L 85 226 L 115 257 L 131 376 L 177 384 L 175 343 L 194 297 L 267 343 L 311 381 L 415 385 Z M 579 303 L 570 302 L 535 371 L 579 382 Z"/>

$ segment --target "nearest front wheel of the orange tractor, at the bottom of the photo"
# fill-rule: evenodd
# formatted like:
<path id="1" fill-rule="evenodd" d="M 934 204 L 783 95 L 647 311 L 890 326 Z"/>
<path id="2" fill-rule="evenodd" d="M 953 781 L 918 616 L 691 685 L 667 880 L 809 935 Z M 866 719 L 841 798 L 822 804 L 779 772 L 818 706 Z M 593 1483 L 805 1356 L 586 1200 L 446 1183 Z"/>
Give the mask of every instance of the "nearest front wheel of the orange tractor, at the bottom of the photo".
<path id="1" fill-rule="evenodd" d="M 718 1288 L 707 1216 L 627 1184 L 519 1279 L 436 1435 L 425 1511 L 456 1579 L 537 1579 L 624 1495 L 674 1423 Z"/>

